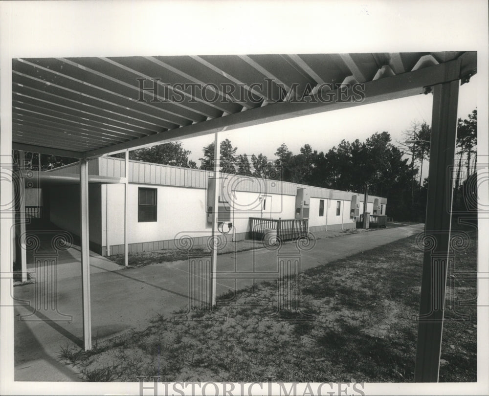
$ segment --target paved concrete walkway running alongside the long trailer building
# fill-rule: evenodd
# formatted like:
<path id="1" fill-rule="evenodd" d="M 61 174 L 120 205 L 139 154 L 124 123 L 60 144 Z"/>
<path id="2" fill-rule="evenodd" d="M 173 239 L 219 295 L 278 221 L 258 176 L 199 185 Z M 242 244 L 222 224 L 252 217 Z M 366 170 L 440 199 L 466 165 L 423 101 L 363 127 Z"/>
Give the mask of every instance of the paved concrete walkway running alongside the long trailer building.
<path id="1" fill-rule="evenodd" d="M 300 252 L 301 270 L 342 259 L 422 231 L 423 225 L 419 224 L 338 238 L 321 238 L 311 250 Z M 264 277 L 257 272 L 277 272 L 278 255 L 297 252 L 295 243 L 292 242 L 286 243 L 278 251 L 262 248 L 220 255 L 218 271 L 224 274 L 222 279 L 218 279 L 218 295 L 235 287 L 239 289 L 250 285 L 253 282 L 252 278 L 260 281 Z M 90 257 L 90 262 L 101 259 Z M 79 262 L 73 261 L 71 266 L 75 264 L 79 267 Z M 108 266 L 106 269 L 100 267 L 90 271 L 94 345 L 97 340 L 110 338 L 123 331 L 146 328 L 149 319 L 157 313 L 172 318 L 174 311 L 187 306 L 188 261 L 111 270 L 114 268 L 116 267 Z M 42 306 L 37 311 L 26 306 L 28 303 L 32 306 L 36 304 L 36 285 L 14 288 L 14 297 L 23 305 L 15 308 L 16 381 L 79 379 L 79 375 L 71 366 L 56 359 L 61 346 L 83 345 L 81 278 L 78 274 L 73 276 L 73 271 L 68 263 L 59 265 L 58 280 L 62 282 L 57 283 L 55 304 Z M 253 274 L 247 279 L 224 279 L 232 272 L 249 271 L 253 271 Z"/>

